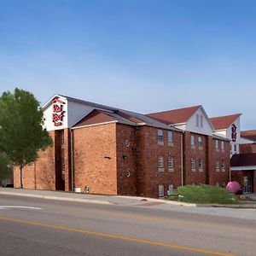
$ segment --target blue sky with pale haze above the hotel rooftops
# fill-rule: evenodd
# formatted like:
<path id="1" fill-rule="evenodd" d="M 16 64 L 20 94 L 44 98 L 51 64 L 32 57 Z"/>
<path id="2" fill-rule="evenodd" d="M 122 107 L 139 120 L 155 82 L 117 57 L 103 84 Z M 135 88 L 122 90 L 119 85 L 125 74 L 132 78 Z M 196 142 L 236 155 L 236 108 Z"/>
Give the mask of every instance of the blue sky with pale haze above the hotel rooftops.
<path id="1" fill-rule="evenodd" d="M 256 2 L 0 0 L 0 95 L 139 113 L 202 105 L 256 129 Z"/>

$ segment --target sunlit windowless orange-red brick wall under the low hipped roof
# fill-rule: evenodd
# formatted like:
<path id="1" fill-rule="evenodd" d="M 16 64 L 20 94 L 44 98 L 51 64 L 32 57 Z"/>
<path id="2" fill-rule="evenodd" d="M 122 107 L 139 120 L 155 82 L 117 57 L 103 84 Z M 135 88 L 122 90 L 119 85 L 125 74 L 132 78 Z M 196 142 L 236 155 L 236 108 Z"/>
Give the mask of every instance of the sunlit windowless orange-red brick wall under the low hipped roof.
<path id="1" fill-rule="evenodd" d="M 117 195 L 116 124 L 73 130 L 74 185 L 91 194 Z"/>

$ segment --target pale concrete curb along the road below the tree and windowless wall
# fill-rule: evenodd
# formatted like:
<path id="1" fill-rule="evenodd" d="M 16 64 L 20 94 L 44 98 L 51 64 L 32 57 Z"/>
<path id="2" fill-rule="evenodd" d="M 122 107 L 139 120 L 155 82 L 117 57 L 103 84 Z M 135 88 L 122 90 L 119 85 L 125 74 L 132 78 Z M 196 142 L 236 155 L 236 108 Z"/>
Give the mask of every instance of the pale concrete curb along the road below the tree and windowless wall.
<path id="1" fill-rule="evenodd" d="M 3 191 L 0 192 L 0 195 L 18 195 L 18 196 L 24 196 L 24 197 L 40 198 L 45 200 L 76 201 L 76 202 L 86 202 L 86 203 L 102 204 L 102 205 L 113 205 L 109 201 L 98 201 L 98 200 L 70 198 L 70 197 L 57 197 L 57 196 L 51 196 L 51 195 L 32 195 L 32 194 L 20 194 L 20 193 L 3 192 Z"/>

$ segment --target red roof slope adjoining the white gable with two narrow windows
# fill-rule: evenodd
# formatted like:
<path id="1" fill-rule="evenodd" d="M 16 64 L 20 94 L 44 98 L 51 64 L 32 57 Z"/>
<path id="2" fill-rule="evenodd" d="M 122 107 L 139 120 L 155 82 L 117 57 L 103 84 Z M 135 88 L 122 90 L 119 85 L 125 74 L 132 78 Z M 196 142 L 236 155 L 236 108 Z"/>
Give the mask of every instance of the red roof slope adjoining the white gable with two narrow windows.
<path id="1" fill-rule="evenodd" d="M 172 109 L 157 113 L 148 113 L 147 115 L 148 117 L 164 121 L 168 125 L 181 124 L 186 123 L 198 108 L 201 108 L 201 105 L 189 108 Z"/>

